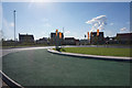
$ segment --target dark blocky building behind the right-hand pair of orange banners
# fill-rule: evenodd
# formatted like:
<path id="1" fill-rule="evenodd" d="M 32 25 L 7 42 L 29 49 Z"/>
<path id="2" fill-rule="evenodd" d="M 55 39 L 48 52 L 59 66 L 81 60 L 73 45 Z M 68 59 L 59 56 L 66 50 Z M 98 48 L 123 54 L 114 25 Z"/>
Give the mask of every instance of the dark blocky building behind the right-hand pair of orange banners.
<path id="1" fill-rule="evenodd" d="M 90 44 L 105 44 L 103 32 L 99 32 L 98 36 L 97 36 L 97 32 L 91 32 Z"/>

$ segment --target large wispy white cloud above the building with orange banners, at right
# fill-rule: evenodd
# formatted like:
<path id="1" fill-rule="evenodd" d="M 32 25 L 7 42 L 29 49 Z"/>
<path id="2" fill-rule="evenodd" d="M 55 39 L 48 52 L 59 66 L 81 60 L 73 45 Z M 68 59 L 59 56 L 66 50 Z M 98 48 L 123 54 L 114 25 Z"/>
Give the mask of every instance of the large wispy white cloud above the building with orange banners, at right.
<path id="1" fill-rule="evenodd" d="M 105 29 L 105 25 L 107 24 L 107 16 L 99 15 L 97 18 L 94 18 L 94 19 L 87 21 L 86 23 L 92 25 L 90 32 L 96 31 L 97 29 L 99 29 L 101 31 Z"/>

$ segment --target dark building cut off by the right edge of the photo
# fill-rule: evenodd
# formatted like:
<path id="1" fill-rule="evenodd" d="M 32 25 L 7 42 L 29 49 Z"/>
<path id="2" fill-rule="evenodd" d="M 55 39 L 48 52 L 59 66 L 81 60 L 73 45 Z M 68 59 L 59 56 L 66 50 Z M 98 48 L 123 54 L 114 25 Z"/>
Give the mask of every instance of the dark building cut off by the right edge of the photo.
<path id="1" fill-rule="evenodd" d="M 119 44 L 132 44 L 132 33 L 118 33 L 117 41 Z"/>

